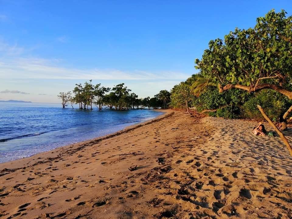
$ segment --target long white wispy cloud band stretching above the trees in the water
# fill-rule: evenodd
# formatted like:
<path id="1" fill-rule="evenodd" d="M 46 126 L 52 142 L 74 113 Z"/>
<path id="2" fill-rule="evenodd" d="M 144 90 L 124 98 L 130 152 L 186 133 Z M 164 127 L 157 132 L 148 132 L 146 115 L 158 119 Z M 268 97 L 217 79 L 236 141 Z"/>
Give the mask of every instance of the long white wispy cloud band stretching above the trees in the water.
<path id="1" fill-rule="evenodd" d="M 174 71 L 121 71 L 118 69 L 64 68 L 58 59 L 17 58 L 0 61 L 0 78 L 99 79 L 99 80 L 185 80 L 189 74 Z"/>

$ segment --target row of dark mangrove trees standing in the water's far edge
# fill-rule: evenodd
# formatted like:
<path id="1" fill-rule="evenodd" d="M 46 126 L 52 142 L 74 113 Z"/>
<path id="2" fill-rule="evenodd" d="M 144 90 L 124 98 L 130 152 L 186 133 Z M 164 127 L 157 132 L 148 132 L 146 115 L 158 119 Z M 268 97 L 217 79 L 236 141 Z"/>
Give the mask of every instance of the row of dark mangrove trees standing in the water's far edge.
<path id="1" fill-rule="evenodd" d="M 154 97 L 138 98 L 138 95 L 124 86 L 118 84 L 113 88 L 92 84 L 92 80 L 82 84 L 76 84 L 73 93 L 60 92 L 58 98 L 62 101 L 62 107 L 70 103 L 79 105 L 79 109 L 93 109 L 96 106 L 99 110 L 104 108 L 125 110 L 125 109 L 158 109 L 167 108 L 170 101 L 170 93 L 162 90 Z"/>

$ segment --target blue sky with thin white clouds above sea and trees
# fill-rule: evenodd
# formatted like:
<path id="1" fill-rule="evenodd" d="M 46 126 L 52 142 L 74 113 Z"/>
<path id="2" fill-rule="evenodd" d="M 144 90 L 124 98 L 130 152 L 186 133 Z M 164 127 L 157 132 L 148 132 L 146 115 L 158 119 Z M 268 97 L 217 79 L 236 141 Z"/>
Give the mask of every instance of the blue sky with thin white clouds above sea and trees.
<path id="1" fill-rule="evenodd" d="M 0 0 L 0 100 L 57 103 L 89 79 L 154 96 L 196 73 L 211 39 L 273 8 L 291 15 L 292 1 Z"/>

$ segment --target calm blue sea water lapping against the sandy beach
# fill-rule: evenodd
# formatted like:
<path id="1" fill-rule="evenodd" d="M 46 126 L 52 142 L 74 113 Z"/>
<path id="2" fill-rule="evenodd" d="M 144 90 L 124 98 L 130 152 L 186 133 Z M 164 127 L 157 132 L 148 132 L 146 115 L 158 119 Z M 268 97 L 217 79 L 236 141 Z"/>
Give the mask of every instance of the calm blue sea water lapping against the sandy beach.
<path id="1" fill-rule="evenodd" d="M 153 110 L 84 111 L 70 107 L 0 102 L 0 163 L 100 137 L 162 114 Z"/>

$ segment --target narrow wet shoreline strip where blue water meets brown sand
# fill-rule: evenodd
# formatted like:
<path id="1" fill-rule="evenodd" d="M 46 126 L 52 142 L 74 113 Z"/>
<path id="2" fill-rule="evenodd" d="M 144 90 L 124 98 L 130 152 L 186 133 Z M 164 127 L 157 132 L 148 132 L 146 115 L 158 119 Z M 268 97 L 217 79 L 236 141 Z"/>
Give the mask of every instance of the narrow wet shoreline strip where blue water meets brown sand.
<path id="1" fill-rule="evenodd" d="M 158 119 L 158 118 L 160 118 L 161 116 L 163 117 L 164 115 L 167 114 L 167 112 L 165 112 L 165 109 L 153 109 L 153 110 L 154 110 L 154 111 L 157 111 L 157 112 L 162 112 L 163 114 L 162 114 L 162 115 L 158 115 L 158 116 L 156 116 L 156 117 L 153 118 L 153 119 L 147 119 L 147 120 L 145 120 L 145 121 L 140 121 L 140 122 L 137 122 L 136 124 L 126 126 L 126 127 L 122 128 L 121 130 L 118 130 L 118 131 L 115 131 L 115 132 L 112 132 L 112 133 L 109 133 L 109 134 L 106 134 L 106 135 L 102 135 L 102 136 L 99 136 L 99 137 L 90 138 L 90 139 L 87 139 L 87 140 L 84 140 L 84 141 L 78 141 L 78 142 L 71 143 L 71 144 L 65 144 L 65 145 L 63 145 L 63 146 L 59 146 L 59 147 L 56 147 L 56 148 L 53 148 L 53 149 L 49 149 L 49 150 L 47 150 L 47 151 L 41 151 L 41 152 L 39 152 L 39 153 L 36 153 L 36 154 L 30 155 L 30 156 L 27 156 L 27 157 L 18 158 L 18 159 L 11 160 L 11 161 L 6 161 L 6 162 L 0 162 L 0 164 L 4 164 L 4 163 L 7 163 L 7 162 L 12 162 L 12 161 L 17 161 L 17 160 L 21 160 L 21 159 L 25 159 L 25 158 L 30 158 L 30 157 L 32 157 L 32 156 L 39 155 L 39 154 L 42 154 L 42 153 L 45 153 L 45 152 L 54 151 L 54 150 L 56 150 L 56 149 L 58 149 L 58 148 L 67 147 L 67 146 L 69 146 L 69 145 L 74 145 L 74 144 L 86 143 L 87 141 L 92 141 L 92 140 L 96 140 L 96 139 L 99 139 L 99 138 L 102 138 L 102 137 L 106 137 L 106 136 L 108 136 L 108 135 L 113 135 L 113 134 L 118 133 L 118 132 L 120 132 L 120 131 L 123 131 L 123 130 L 125 130 L 125 129 L 133 128 L 133 127 L 135 127 L 135 126 L 137 126 L 137 125 L 140 125 L 140 124 L 142 125 L 143 123 L 147 123 L 147 122 L 150 122 L 150 121 L 152 121 L 152 120 Z M 167 110 L 167 109 L 166 109 L 166 110 Z"/>

